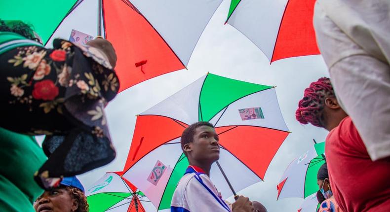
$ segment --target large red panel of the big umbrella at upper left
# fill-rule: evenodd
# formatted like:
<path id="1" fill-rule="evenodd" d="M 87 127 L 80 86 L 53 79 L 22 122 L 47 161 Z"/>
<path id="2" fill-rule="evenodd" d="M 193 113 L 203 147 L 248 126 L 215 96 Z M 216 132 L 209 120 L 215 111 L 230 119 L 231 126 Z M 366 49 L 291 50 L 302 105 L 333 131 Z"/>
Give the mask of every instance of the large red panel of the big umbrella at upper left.
<path id="1" fill-rule="evenodd" d="M 103 10 L 106 38 L 117 52 L 118 92 L 185 68 L 149 22 L 129 5 L 121 0 L 103 0 Z M 136 67 L 145 61 L 142 67 Z"/>

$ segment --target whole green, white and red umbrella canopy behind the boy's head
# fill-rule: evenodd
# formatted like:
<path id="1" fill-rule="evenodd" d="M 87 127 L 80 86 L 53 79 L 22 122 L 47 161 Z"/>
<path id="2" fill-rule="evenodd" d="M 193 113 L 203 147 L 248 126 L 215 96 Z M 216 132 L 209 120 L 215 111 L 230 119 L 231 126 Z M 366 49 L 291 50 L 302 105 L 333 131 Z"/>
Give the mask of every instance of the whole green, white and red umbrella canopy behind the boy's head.
<path id="1" fill-rule="evenodd" d="M 289 134 L 274 87 L 211 73 L 199 78 L 137 116 L 123 177 L 158 210 L 170 208 L 176 185 L 189 165 L 180 136 L 197 121 L 215 126 L 221 145 L 219 163 L 237 191 L 264 178 Z M 232 195 L 215 164 L 210 176 L 224 198 Z"/>

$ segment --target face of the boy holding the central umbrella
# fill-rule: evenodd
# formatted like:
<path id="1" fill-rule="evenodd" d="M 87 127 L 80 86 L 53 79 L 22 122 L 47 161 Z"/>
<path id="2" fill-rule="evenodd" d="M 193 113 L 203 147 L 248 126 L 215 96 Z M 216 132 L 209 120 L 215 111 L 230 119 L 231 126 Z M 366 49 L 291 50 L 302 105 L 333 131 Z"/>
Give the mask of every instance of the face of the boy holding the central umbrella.
<path id="1" fill-rule="evenodd" d="M 195 129 L 194 141 L 188 143 L 187 155 L 196 161 L 214 163 L 219 159 L 218 135 L 214 128 L 200 126 Z"/>

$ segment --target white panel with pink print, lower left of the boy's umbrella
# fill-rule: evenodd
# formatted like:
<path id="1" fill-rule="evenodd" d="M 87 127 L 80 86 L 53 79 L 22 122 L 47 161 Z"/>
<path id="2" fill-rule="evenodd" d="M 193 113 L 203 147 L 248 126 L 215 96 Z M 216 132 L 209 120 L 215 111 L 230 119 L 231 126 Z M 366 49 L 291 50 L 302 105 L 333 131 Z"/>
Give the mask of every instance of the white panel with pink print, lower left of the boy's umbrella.
<path id="1" fill-rule="evenodd" d="M 181 154 L 180 143 L 161 145 L 134 164 L 123 177 L 137 186 L 152 201 L 153 205 L 158 208 L 165 186 Z M 158 183 L 154 185 L 148 181 L 148 177 L 157 160 L 161 161 L 167 169 L 160 177 Z"/>

